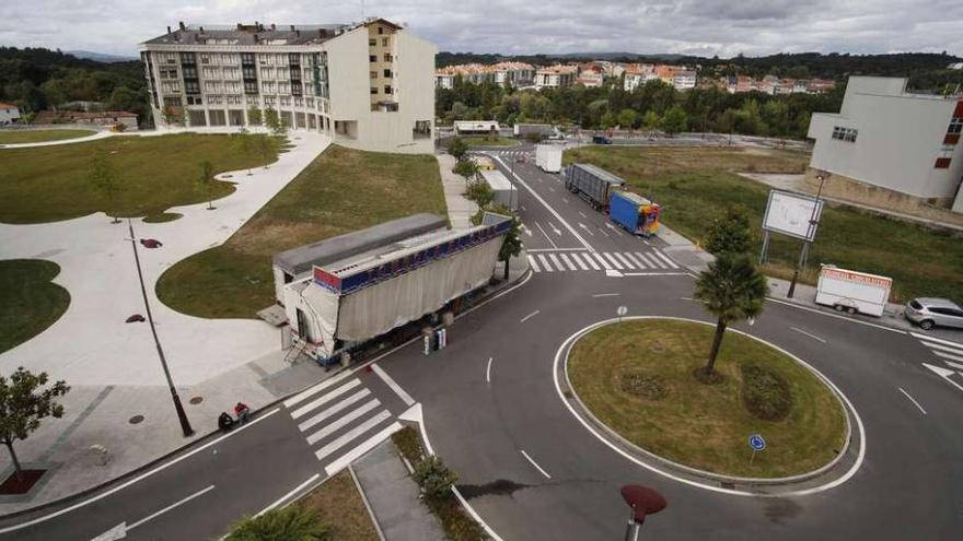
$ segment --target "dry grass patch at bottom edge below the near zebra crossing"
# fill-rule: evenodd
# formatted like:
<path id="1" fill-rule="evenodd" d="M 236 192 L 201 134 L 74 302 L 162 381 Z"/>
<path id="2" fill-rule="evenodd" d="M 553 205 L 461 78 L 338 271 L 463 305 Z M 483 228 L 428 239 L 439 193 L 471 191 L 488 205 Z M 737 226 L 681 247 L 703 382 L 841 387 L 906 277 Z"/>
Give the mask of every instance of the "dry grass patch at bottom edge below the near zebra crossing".
<path id="1" fill-rule="evenodd" d="M 355 486 L 348 470 L 344 470 L 298 502 L 311 509 L 330 527 L 332 539 L 337 541 L 378 541 L 378 531 L 364 501 Z"/>

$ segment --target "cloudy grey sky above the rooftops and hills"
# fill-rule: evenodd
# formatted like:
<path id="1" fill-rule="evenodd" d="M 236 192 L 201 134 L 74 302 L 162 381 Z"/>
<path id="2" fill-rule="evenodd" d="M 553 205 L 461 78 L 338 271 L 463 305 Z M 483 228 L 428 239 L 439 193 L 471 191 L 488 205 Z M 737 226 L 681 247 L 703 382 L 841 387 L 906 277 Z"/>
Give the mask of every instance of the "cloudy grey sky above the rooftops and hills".
<path id="1" fill-rule="evenodd" d="M 463 52 L 963 56 L 963 0 L 368 0 L 363 13 L 408 23 L 440 50 Z M 4 10 L 0 45 L 132 55 L 178 21 L 361 17 L 357 0 L 33 0 Z"/>

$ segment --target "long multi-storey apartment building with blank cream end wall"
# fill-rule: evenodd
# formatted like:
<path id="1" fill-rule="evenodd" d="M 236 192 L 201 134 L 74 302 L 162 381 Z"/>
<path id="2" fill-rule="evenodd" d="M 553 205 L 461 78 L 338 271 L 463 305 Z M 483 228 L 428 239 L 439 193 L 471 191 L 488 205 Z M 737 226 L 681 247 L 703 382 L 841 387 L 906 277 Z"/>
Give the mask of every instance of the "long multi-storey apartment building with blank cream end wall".
<path id="1" fill-rule="evenodd" d="M 355 25 L 190 26 L 141 44 L 156 126 L 288 127 L 382 152 L 431 152 L 437 48 L 383 19 Z"/>

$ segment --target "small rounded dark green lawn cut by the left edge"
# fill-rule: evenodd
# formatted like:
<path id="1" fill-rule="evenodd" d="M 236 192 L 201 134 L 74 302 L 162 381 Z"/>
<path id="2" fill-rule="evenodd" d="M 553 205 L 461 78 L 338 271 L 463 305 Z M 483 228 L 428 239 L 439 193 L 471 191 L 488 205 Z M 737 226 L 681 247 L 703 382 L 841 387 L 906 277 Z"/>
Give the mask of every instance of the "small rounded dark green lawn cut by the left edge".
<path id="1" fill-rule="evenodd" d="M 0 353 L 36 337 L 67 311 L 70 293 L 50 283 L 59 273 L 53 261 L 0 261 Z"/>

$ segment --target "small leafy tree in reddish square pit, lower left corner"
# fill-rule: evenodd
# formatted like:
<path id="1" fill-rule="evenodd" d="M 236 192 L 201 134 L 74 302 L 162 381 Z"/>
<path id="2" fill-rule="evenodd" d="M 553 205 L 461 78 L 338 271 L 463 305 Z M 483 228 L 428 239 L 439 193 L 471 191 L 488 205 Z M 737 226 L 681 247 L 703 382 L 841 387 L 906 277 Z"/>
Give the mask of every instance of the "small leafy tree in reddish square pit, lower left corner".
<path id="1" fill-rule="evenodd" d="M 0 443 L 10 451 L 18 479 L 23 479 L 23 469 L 13 444 L 30 437 L 44 419 L 63 416 L 63 405 L 57 399 L 67 395 L 70 387 L 63 381 L 45 387 L 47 381 L 46 372 L 34 375 L 23 366 L 9 378 L 0 376 Z"/>

